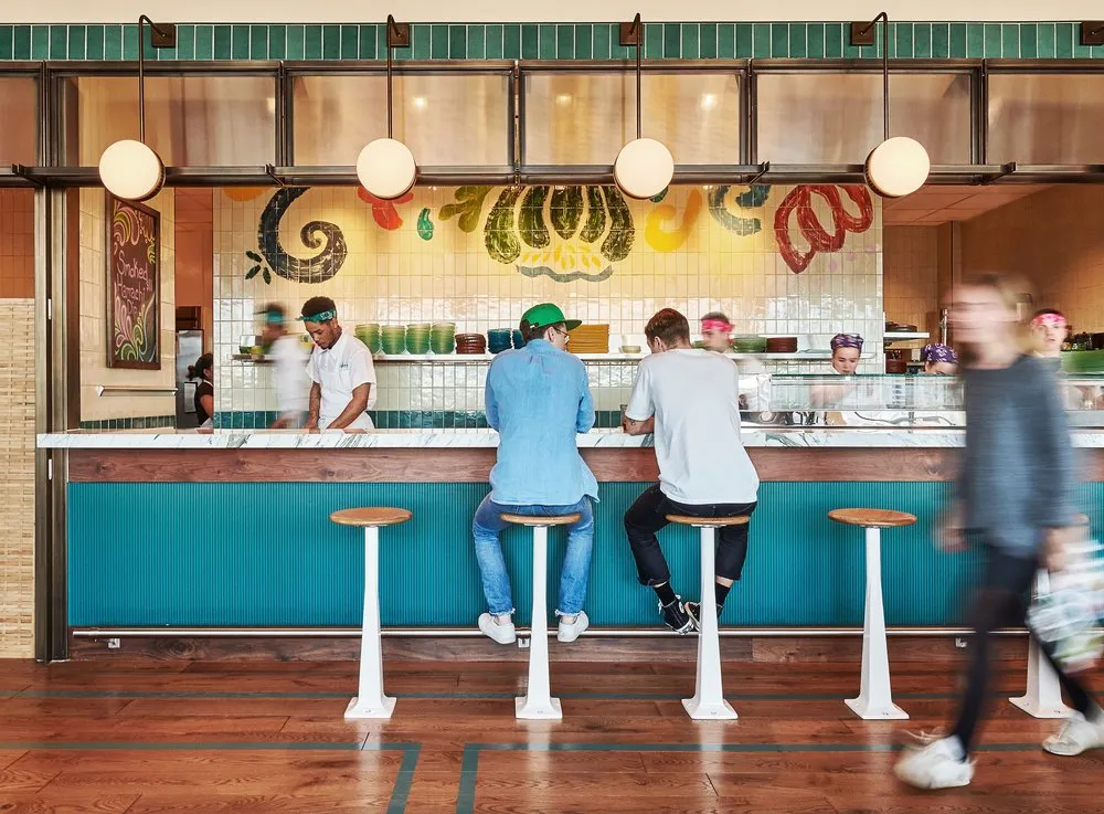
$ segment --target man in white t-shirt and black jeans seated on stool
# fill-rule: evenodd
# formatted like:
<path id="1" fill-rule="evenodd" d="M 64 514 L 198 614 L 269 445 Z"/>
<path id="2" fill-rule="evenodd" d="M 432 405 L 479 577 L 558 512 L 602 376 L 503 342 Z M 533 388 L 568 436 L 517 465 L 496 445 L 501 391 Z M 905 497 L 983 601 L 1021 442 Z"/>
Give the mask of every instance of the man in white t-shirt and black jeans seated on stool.
<path id="1" fill-rule="evenodd" d="M 630 435 L 655 432 L 659 483 L 625 512 L 640 584 L 659 596 L 664 622 L 679 634 L 698 626 L 700 604 L 682 603 L 656 532 L 668 515 L 737 517 L 755 509 L 758 475 L 740 440 L 740 374 L 719 353 L 690 345 L 687 318 L 665 308 L 645 328 L 651 356 L 640 362 L 625 410 Z M 718 529 L 718 615 L 747 556 L 747 525 Z M 701 598 L 708 602 L 708 596 Z"/>

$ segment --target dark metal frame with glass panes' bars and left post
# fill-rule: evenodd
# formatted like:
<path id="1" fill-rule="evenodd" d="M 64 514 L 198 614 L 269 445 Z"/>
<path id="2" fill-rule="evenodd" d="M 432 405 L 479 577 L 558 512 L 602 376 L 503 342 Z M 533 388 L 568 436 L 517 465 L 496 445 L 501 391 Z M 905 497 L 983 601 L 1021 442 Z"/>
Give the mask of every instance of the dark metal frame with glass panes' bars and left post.
<path id="1" fill-rule="evenodd" d="M 923 72 L 964 73 L 972 77 L 970 155 L 972 162 L 960 166 L 933 166 L 930 183 L 1104 183 L 1104 165 L 1026 166 L 992 165 L 987 160 L 988 77 L 1007 73 L 1104 74 L 1104 64 L 1085 61 L 1028 60 L 890 60 L 895 74 Z M 433 61 L 402 62 L 399 75 L 470 73 L 505 74 L 510 77 L 508 99 L 510 131 L 507 134 L 509 167 L 420 167 L 418 183 L 509 184 L 509 183 L 612 183 L 613 166 L 554 167 L 528 166 L 524 145 L 524 76 L 531 72 L 627 72 L 634 65 L 623 61 Z M 714 60 L 652 61 L 641 66 L 647 74 L 731 72 L 740 78 L 740 125 L 733 134 L 739 140 L 739 163 L 732 166 L 677 166 L 675 183 L 861 183 L 862 165 L 772 163 L 769 156 L 757 155 L 757 78 L 772 73 L 879 73 L 882 65 L 870 60 Z M 382 75 L 382 61 L 340 62 L 153 62 L 146 66 L 150 77 L 215 75 L 261 75 L 272 77 L 276 110 L 272 134 L 275 161 L 256 167 L 167 167 L 169 187 L 229 187 L 302 184 L 354 186 L 352 166 L 302 167 L 295 163 L 294 98 L 295 77 L 305 75 Z M 78 76 L 137 76 L 137 67 L 118 62 L 21 62 L 0 66 L 0 78 L 28 76 L 38 82 L 36 166 L 0 168 L 0 187 L 34 189 L 35 219 L 35 431 L 62 432 L 73 420 L 75 393 L 79 382 L 77 360 L 73 358 L 76 336 L 70 325 L 70 305 L 75 303 L 67 245 L 74 224 L 65 190 L 98 187 L 95 167 L 64 166 L 62 148 L 63 110 L 61 83 Z M 68 649 L 66 624 L 66 518 L 64 450 L 35 452 L 35 657 L 40 660 L 64 658 Z M 117 635 L 121 635 L 120 632 Z M 177 631 L 176 633 L 180 633 Z M 420 635 L 404 632 L 405 635 Z M 787 633 L 794 633 L 787 631 Z M 808 632 L 803 632 L 808 633 Z M 822 631 L 820 635 L 839 635 Z M 850 633 L 850 631 L 847 631 Z M 947 635 L 954 631 L 940 631 Z M 95 632 L 91 635 L 103 635 Z M 77 633 L 76 635 L 89 635 Z M 220 634 L 214 634 L 220 635 Z M 243 635 L 226 633 L 224 635 Z M 635 633 L 630 633 L 635 635 Z M 763 632 L 756 632 L 763 635 Z"/>

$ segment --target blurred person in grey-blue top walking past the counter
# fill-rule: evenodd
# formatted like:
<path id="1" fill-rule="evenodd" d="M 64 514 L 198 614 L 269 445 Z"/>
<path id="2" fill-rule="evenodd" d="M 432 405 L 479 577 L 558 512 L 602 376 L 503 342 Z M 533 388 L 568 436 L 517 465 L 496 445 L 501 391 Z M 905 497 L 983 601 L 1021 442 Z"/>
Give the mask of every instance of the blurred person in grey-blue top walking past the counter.
<path id="1" fill-rule="evenodd" d="M 966 350 L 966 450 L 944 539 L 951 549 L 967 540 L 979 543 L 986 565 L 958 720 L 947 737 L 922 739 L 896 764 L 896 775 L 920 789 L 970 782 L 974 739 L 989 696 L 990 634 L 1025 624 L 1036 571 L 1041 564 L 1062 567 L 1064 535 L 1073 520 L 1073 448 L 1065 413 L 1053 373 L 1025 353 L 1017 300 L 1007 282 L 990 275 L 959 287 L 953 309 L 955 336 Z M 1062 673 L 1052 644 L 1039 645 L 1076 710 L 1042 748 L 1074 755 L 1104 746 L 1104 712 L 1096 700 Z"/>

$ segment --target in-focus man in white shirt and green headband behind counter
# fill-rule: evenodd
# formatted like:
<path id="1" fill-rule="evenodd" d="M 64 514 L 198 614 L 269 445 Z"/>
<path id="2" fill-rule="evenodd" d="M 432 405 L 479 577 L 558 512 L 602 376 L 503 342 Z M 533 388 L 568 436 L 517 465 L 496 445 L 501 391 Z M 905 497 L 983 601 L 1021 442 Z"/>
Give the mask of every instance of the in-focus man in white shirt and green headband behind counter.
<path id="1" fill-rule="evenodd" d="M 329 297 L 311 297 L 299 317 L 315 340 L 307 362 L 310 405 L 307 430 L 371 430 L 365 411 L 375 406 L 375 368 L 368 346 L 341 330 Z"/>

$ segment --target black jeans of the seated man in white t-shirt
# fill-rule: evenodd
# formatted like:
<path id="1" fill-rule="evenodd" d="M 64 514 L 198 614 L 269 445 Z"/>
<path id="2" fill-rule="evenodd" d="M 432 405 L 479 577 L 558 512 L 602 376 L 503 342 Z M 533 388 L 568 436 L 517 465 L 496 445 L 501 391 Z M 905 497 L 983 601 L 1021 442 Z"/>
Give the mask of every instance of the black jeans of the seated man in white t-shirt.
<path id="1" fill-rule="evenodd" d="M 648 488 L 625 512 L 625 533 L 633 547 L 636 570 L 641 585 L 661 585 L 670 582 L 671 572 L 667 558 L 659 548 L 656 532 L 668 525 L 668 515 L 689 517 L 737 517 L 750 515 L 755 504 L 704 504 L 689 505 L 671 500 L 660 489 L 659 484 Z M 747 558 L 747 524 L 724 526 L 716 530 L 716 575 L 728 580 L 739 580 Z"/>

